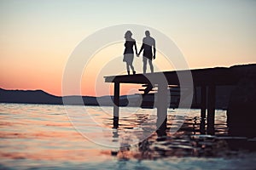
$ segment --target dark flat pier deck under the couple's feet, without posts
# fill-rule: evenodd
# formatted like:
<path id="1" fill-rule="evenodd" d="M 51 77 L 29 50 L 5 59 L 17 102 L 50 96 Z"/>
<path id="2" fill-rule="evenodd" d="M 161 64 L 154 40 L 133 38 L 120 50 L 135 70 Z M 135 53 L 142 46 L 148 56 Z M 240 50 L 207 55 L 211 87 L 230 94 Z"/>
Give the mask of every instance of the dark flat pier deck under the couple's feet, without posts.
<path id="1" fill-rule="evenodd" d="M 136 84 L 158 84 L 160 77 L 164 74 L 169 85 L 179 85 L 179 77 L 186 76 L 191 73 L 194 86 L 201 86 L 202 83 L 210 85 L 212 81 L 216 85 L 232 85 L 239 81 L 241 75 L 234 74 L 230 68 L 208 68 L 196 69 L 187 71 L 164 71 L 147 74 L 136 75 L 120 75 L 105 77 L 105 82 L 121 82 L 121 83 L 136 83 Z M 188 82 L 190 83 L 190 82 Z M 186 84 L 183 84 L 185 86 Z M 188 86 L 191 84 L 187 84 Z"/>

